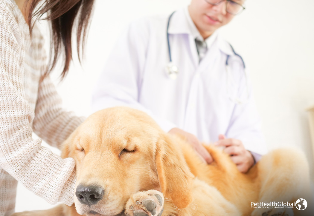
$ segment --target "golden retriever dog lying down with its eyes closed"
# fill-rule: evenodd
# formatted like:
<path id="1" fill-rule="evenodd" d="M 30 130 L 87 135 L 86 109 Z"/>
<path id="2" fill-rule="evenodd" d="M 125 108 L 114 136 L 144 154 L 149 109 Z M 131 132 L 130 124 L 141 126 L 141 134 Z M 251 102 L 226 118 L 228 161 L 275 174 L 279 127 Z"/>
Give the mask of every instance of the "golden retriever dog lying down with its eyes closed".
<path id="1" fill-rule="evenodd" d="M 214 159 L 210 165 L 183 137 L 165 133 L 141 111 L 98 111 L 63 143 L 62 157 L 76 161 L 75 206 L 14 216 L 311 215 L 308 164 L 302 153 L 270 152 L 243 174 L 222 150 L 205 147 Z M 257 206 L 299 198 L 307 200 L 304 211 Z"/>

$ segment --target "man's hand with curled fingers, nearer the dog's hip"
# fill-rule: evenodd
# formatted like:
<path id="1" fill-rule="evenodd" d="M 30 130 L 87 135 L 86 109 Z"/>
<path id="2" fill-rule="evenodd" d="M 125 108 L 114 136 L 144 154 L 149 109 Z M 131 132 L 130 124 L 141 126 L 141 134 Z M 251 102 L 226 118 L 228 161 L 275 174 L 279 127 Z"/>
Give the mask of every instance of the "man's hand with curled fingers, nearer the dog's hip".
<path id="1" fill-rule="evenodd" d="M 252 154 L 247 151 L 242 142 L 237 139 L 226 139 L 225 135 L 219 135 L 217 146 L 224 146 L 224 152 L 230 155 L 231 160 L 236 164 L 240 172 L 247 172 L 253 165 L 254 159 Z"/>

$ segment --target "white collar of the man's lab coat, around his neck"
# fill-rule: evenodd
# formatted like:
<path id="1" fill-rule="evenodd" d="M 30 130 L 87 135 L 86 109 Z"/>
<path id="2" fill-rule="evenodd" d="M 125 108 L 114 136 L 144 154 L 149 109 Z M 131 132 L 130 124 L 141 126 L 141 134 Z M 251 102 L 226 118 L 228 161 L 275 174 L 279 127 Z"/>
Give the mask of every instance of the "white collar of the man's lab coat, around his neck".
<path id="1" fill-rule="evenodd" d="M 188 12 L 188 7 L 181 8 L 172 15 L 169 23 L 168 33 L 188 34 L 193 39 L 198 38 L 203 40 L 203 37 L 198 32 L 198 29 L 192 21 L 192 18 Z M 210 37 L 205 40 L 208 48 L 210 48 L 215 41 L 217 41 L 218 47 L 223 53 L 230 56 L 234 55 L 230 44 L 220 37 L 218 30 L 216 30 Z"/>

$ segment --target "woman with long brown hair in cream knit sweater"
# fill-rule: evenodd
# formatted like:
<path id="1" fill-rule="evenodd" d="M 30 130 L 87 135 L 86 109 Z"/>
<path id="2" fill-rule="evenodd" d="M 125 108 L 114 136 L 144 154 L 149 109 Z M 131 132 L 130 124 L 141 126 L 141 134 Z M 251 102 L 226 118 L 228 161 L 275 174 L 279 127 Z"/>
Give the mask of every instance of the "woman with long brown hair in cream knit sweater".
<path id="1" fill-rule="evenodd" d="M 77 39 L 82 38 L 78 44 L 83 44 L 93 2 L 0 0 L 0 216 L 14 213 L 18 181 L 48 203 L 74 202 L 73 158 L 55 155 L 41 146 L 41 139 L 60 147 L 84 120 L 62 110 L 49 72 L 64 54 L 62 77 L 67 74 L 72 26 Z M 54 48 L 49 65 L 37 24 L 45 13 Z M 73 20 L 78 14 L 77 26 Z M 33 139 L 33 132 L 41 139 Z"/>

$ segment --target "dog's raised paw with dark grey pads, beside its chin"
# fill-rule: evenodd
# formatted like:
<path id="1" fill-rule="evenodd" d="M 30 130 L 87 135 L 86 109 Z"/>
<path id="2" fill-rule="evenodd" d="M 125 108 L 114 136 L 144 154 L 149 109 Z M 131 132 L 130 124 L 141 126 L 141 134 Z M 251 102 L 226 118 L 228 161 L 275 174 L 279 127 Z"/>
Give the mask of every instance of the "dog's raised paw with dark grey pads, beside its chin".
<path id="1" fill-rule="evenodd" d="M 127 216 L 161 216 L 164 203 L 164 195 L 159 191 L 138 192 L 127 201 L 125 213 Z"/>

